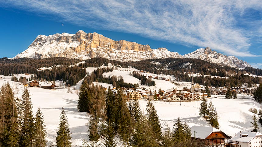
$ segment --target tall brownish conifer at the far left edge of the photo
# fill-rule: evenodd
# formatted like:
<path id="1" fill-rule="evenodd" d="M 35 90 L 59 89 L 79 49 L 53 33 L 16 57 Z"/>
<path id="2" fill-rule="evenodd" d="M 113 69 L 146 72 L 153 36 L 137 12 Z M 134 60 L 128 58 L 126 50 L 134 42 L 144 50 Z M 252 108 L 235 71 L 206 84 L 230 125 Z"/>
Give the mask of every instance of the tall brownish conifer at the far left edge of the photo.
<path id="1" fill-rule="evenodd" d="M 18 115 L 16 101 L 9 83 L 4 84 L 0 92 L 0 146 L 18 145 Z"/>

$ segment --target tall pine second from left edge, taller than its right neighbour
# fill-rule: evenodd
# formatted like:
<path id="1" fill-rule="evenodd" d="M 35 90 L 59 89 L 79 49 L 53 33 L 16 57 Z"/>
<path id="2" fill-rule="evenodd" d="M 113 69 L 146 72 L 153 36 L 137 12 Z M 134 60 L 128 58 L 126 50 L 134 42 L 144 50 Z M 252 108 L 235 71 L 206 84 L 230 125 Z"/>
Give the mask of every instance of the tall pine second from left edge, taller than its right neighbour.
<path id="1" fill-rule="evenodd" d="M 35 125 L 34 125 L 34 114 L 33 107 L 28 89 L 25 89 L 22 94 L 22 102 L 20 111 L 22 112 L 21 119 L 21 136 L 19 144 L 21 146 L 33 146 L 35 137 Z"/>

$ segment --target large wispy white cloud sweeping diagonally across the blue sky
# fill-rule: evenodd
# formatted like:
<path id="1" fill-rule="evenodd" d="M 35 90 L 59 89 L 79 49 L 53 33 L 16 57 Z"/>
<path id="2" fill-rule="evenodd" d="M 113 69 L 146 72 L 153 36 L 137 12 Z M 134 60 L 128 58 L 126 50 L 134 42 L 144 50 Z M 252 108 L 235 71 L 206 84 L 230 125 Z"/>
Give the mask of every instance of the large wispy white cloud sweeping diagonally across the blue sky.
<path id="1" fill-rule="evenodd" d="M 249 47 L 252 37 L 261 34 L 236 26 L 240 21 L 236 16 L 244 16 L 250 9 L 262 10 L 262 3 L 255 0 L 5 0 L 0 6 L 51 14 L 100 30 L 136 33 L 187 46 L 209 46 L 228 55 L 260 56 L 251 53 Z M 261 27 L 259 21 L 249 21 L 254 22 L 253 28 Z"/>

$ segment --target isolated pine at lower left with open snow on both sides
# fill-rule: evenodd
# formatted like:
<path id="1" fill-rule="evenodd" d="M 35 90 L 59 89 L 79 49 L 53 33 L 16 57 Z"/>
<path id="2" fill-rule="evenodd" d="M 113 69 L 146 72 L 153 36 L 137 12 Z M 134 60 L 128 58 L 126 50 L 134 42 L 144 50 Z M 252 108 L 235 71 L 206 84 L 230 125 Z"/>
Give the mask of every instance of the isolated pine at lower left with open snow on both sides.
<path id="1" fill-rule="evenodd" d="M 59 119 L 59 126 L 56 132 L 57 136 L 55 137 L 56 146 L 57 147 L 71 147 L 71 133 L 69 130 L 69 124 L 67 122 L 66 113 L 64 107 L 62 107 L 62 111 Z"/>

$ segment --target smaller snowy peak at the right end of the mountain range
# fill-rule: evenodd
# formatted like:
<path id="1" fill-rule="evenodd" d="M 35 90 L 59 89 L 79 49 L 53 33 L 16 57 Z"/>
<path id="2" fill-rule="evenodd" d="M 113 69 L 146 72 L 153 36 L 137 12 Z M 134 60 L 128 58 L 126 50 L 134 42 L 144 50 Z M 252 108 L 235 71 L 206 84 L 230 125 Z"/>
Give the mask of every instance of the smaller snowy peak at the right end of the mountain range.
<path id="1" fill-rule="evenodd" d="M 212 51 L 209 47 L 199 48 L 196 51 L 183 55 L 183 58 L 196 58 L 209 61 L 211 63 L 224 64 L 241 69 L 247 66 L 251 67 L 251 65 L 248 64 L 246 61 L 242 61 L 235 56 L 226 56 L 221 53 L 217 53 L 216 51 Z"/>

